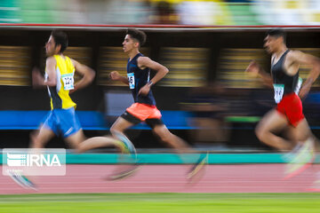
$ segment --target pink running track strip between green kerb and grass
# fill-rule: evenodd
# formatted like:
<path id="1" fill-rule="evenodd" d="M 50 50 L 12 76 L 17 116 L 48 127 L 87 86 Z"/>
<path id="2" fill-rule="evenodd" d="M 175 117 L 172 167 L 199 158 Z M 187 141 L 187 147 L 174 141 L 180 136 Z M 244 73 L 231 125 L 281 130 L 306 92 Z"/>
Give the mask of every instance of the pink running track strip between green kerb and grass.
<path id="1" fill-rule="evenodd" d="M 207 165 L 203 177 L 190 185 L 188 165 L 144 165 L 132 177 L 105 179 L 115 165 L 68 165 L 63 177 L 36 177 L 38 191 L 21 188 L 0 176 L 0 194 L 12 193 L 304 193 L 320 165 L 282 180 L 284 164 Z M 0 167 L 2 170 L 2 168 Z"/>

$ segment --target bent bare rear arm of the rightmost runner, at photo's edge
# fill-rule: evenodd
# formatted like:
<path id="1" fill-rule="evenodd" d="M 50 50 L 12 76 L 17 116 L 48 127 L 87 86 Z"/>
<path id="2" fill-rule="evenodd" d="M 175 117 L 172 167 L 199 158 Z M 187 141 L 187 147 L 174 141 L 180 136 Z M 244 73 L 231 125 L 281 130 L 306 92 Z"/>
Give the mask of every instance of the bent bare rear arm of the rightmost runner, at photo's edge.
<path id="1" fill-rule="evenodd" d="M 312 66 L 312 69 L 308 74 L 308 78 L 305 81 L 305 83 L 303 83 L 299 93 L 300 98 L 304 98 L 308 94 L 308 91 L 310 91 L 312 83 L 316 81 L 316 78 L 320 74 L 320 60 L 315 56 L 306 54 L 302 51 L 290 51 L 287 55 L 286 60 L 287 60 L 286 63 L 288 64 L 298 63 L 298 64 L 306 64 L 306 65 Z M 292 70 L 290 68 L 288 69 L 288 72 L 294 72 L 294 71 L 295 71 L 294 69 Z M 298 72 L 298 70 L 296 72 Z"/>

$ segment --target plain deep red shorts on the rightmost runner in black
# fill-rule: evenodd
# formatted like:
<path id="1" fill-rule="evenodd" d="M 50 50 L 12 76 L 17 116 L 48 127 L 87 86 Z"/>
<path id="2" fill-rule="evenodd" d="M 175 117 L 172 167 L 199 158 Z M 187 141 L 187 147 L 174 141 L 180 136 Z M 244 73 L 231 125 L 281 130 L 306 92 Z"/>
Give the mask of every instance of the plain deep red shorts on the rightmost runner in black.
<path id="1" fill-rule="evenodd" d="M 294 127 L 305 117 L 302 113 L 301 100 L 296 93 L 284 95 L 280 103 L 277 104 L 276 111 L 284 114 L 288 122 Z"/>

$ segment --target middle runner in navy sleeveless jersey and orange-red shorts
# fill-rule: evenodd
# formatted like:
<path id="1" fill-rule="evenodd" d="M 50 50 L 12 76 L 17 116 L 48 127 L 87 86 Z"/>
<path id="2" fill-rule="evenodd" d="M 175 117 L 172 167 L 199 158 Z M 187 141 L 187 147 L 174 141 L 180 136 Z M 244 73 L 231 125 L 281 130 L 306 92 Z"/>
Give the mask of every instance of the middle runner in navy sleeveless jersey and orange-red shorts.
<path id="1" fill-rule="evenodd" d="M 124 130 L 140 122 L 146 122 L 161 141 L 174 148 L 178 153 L 195 153 L 196 151 L 188 146 L 184 140 L 173 135 L 161 120 L 162 115 L 156 108 L 156 100 L 152 94 L 151 87 L 164 78 L 169 70 L 167 67 L 140 53 L 140 46 L 146 42 L 146 38 L 147 36 L 144 32 L 135 28 L 129 28 L 123 42 L 123 50 L 129 56 L 127 76 L 121 76 L 117 71 L 110 73 L 112 80 L 121 81 L 129 85 L 134 99 L 132 106 L 128 107 L 124 114 L 118 117 L 116 122 L 111 126 L 110 132 L 115 138 L 123 141 L 124 144 L 132 145 L 129 138 L 124 135 Z M 152 79 L 150 79 L 150 69 L 156 71 L 156 75 Z M 108 139 L 103 139 L 103 137 L 98 137 L 98 140 L 99 142 L 97 142 L 97 138 L 91 138 L 84 143 L 88 148 L 91 146 L 97 147 L 98 145 L 103 146 L 104 144 L 108 145 L 109 143 Z M 133 146 L 132 150 L 135 153 Z M 187 177 L 192 180 L 198 171 L 204 168 L 206 160 L 207 155 L 200 154 L 191 170 L 188 171 Z M 125 170 L 110 178 L 127 177 L 132 174 L 132 170 Z"/>

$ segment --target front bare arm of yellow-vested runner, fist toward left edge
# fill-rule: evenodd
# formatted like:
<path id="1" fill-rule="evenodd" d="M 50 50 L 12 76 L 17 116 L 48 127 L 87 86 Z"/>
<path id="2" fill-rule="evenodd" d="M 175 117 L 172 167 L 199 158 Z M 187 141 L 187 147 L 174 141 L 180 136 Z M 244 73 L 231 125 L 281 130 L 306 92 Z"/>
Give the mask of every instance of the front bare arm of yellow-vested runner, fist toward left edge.
<path id="1" fill-rule="evenodd" d="M 44 76 L 40 73 L 38 68 L 32 70 L 32 84 L 34 86 L 56 86 L 57 85 L 57 75 L 55 72 L 56 59 L 54 57 L 49 57 L 45 62 L 45 69 L 48 78 L 45 80 Z"/>

